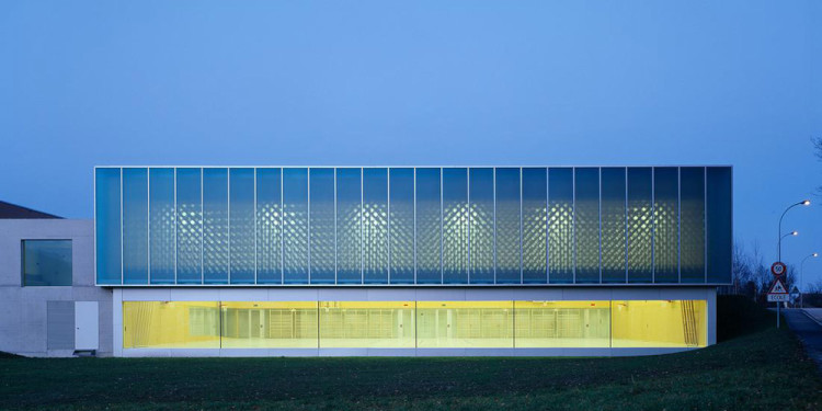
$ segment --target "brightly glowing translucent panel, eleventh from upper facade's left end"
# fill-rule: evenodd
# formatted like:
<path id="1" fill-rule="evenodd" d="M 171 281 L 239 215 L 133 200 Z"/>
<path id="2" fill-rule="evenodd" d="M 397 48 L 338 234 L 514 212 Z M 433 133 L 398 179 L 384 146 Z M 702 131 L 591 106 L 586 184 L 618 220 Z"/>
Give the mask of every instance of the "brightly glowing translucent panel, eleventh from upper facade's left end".
<path id="1" fill-rule="evenodd" d="M 363 169 L 363 281 L 388 284 L 388 169 Z"/>

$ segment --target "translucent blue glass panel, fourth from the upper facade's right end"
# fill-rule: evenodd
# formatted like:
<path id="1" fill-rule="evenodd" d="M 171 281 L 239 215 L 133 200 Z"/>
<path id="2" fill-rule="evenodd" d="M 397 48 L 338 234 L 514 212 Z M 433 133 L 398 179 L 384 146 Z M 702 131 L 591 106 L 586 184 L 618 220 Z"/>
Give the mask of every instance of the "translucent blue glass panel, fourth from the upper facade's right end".
<path id="1" fill-rule="evenodd" d="M 653 209 L 651 168 L 628 169 L 628 282 L 653 279 Z"/>

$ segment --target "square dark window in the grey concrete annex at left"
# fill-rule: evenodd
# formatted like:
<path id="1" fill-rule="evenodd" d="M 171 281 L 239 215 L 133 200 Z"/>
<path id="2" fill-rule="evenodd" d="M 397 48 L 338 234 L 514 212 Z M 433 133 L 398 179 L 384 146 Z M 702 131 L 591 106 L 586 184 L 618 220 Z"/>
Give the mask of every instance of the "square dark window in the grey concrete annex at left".
<path id="1" fill-rule="evenodd" d="M 23 240 L 23 286 L 70 286 L 71 240 Z"/>

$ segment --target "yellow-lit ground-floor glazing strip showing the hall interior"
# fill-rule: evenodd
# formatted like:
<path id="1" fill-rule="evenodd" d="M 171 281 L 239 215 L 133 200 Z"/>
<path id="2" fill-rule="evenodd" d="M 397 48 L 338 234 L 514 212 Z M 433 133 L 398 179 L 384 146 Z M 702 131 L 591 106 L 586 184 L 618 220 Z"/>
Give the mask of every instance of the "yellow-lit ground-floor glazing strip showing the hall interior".
<path id="1" fill-rule="evenodd" d="M 125 349 L 706 345 L 706 300 L 123 302 Z"/>

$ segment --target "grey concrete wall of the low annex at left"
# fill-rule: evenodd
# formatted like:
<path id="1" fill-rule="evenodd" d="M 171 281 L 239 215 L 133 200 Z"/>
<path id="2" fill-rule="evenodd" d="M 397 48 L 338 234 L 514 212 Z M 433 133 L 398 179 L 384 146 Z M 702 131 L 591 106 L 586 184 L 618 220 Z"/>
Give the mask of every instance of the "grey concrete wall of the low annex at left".
<path id="1" fill-rule="evenodd" d="M 48 239 L 71 240 L 72 285 L 23 287 L 21 241 Z M 94 286 L 93 221 L 0 219 L 0 351 L 28 356 L 72 355 L 70 349 L 48 349 L 48 301 L 98 301 L 98 355 L 112 354 L 112 290 Z"/>

